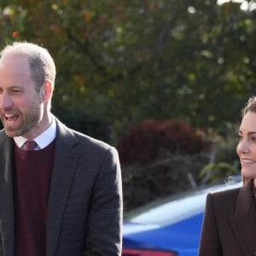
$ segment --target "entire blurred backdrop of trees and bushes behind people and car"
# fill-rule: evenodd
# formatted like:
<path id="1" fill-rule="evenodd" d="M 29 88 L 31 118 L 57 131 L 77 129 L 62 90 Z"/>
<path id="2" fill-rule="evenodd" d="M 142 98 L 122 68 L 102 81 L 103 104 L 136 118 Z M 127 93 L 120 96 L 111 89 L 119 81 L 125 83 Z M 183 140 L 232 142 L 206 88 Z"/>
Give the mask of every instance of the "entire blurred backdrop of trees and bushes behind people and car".
<path id="1" fill-rule="evenodd" d="M 0 3 L 1 49 L 49 49 L 55 115 L 119 149 L 125 210 L 240 172 L 255 30 L 256 1 Z"/>

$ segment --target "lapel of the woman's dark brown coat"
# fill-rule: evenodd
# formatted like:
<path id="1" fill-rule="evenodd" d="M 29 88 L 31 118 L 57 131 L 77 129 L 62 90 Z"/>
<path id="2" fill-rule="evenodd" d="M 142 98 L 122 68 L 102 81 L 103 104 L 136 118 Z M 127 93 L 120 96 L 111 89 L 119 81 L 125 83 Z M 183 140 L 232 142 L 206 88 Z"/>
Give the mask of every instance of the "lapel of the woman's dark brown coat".
<path id="1" fill-rule="evenodd" d="M 253 180 L 249 179 L 240 189 L 236 212 L 230 218 L 230 226 L 236 236 L 245 256 L 254 255 L 256 252 L 255 230 L 256 230 L 256 206 L 253 198 Z"/>

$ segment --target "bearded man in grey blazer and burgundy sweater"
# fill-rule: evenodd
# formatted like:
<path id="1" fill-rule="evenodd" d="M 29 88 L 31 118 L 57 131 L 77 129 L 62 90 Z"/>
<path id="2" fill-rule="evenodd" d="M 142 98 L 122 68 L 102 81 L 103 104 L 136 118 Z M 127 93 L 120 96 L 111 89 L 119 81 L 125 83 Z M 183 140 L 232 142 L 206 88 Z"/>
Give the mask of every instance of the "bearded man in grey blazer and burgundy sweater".
<path id="1" fill-rule="evenodd" d="M 50 112 L 47 49 L 16 42 L 0 54 L 0 255 L 120 255 L 117 151 Z"/>

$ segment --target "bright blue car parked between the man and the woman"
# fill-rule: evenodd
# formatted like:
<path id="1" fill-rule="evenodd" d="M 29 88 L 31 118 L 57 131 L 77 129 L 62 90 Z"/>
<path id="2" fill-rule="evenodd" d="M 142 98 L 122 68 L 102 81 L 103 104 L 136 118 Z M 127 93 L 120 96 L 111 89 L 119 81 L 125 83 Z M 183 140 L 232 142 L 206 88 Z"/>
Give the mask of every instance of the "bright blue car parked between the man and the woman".
<path id="1" fill-rule="evenodd" d="M 196 256 L 207 193 L 241 186 L 241 177 L 138 207 L 124 216 L 122 256 Z"/>

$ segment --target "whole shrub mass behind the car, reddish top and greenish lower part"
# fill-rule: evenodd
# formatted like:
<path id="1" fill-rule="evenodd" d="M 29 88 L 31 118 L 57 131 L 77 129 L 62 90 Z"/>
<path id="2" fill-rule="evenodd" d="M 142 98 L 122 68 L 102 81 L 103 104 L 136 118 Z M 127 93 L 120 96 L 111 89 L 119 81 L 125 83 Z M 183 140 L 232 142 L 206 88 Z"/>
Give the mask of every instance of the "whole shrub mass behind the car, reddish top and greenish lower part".
<path id="1" fill-rule="evenodd" d="M 197 186 L 208 143 L 183 121 L 147 119 L 121 138 L 125 211 Z"/>

